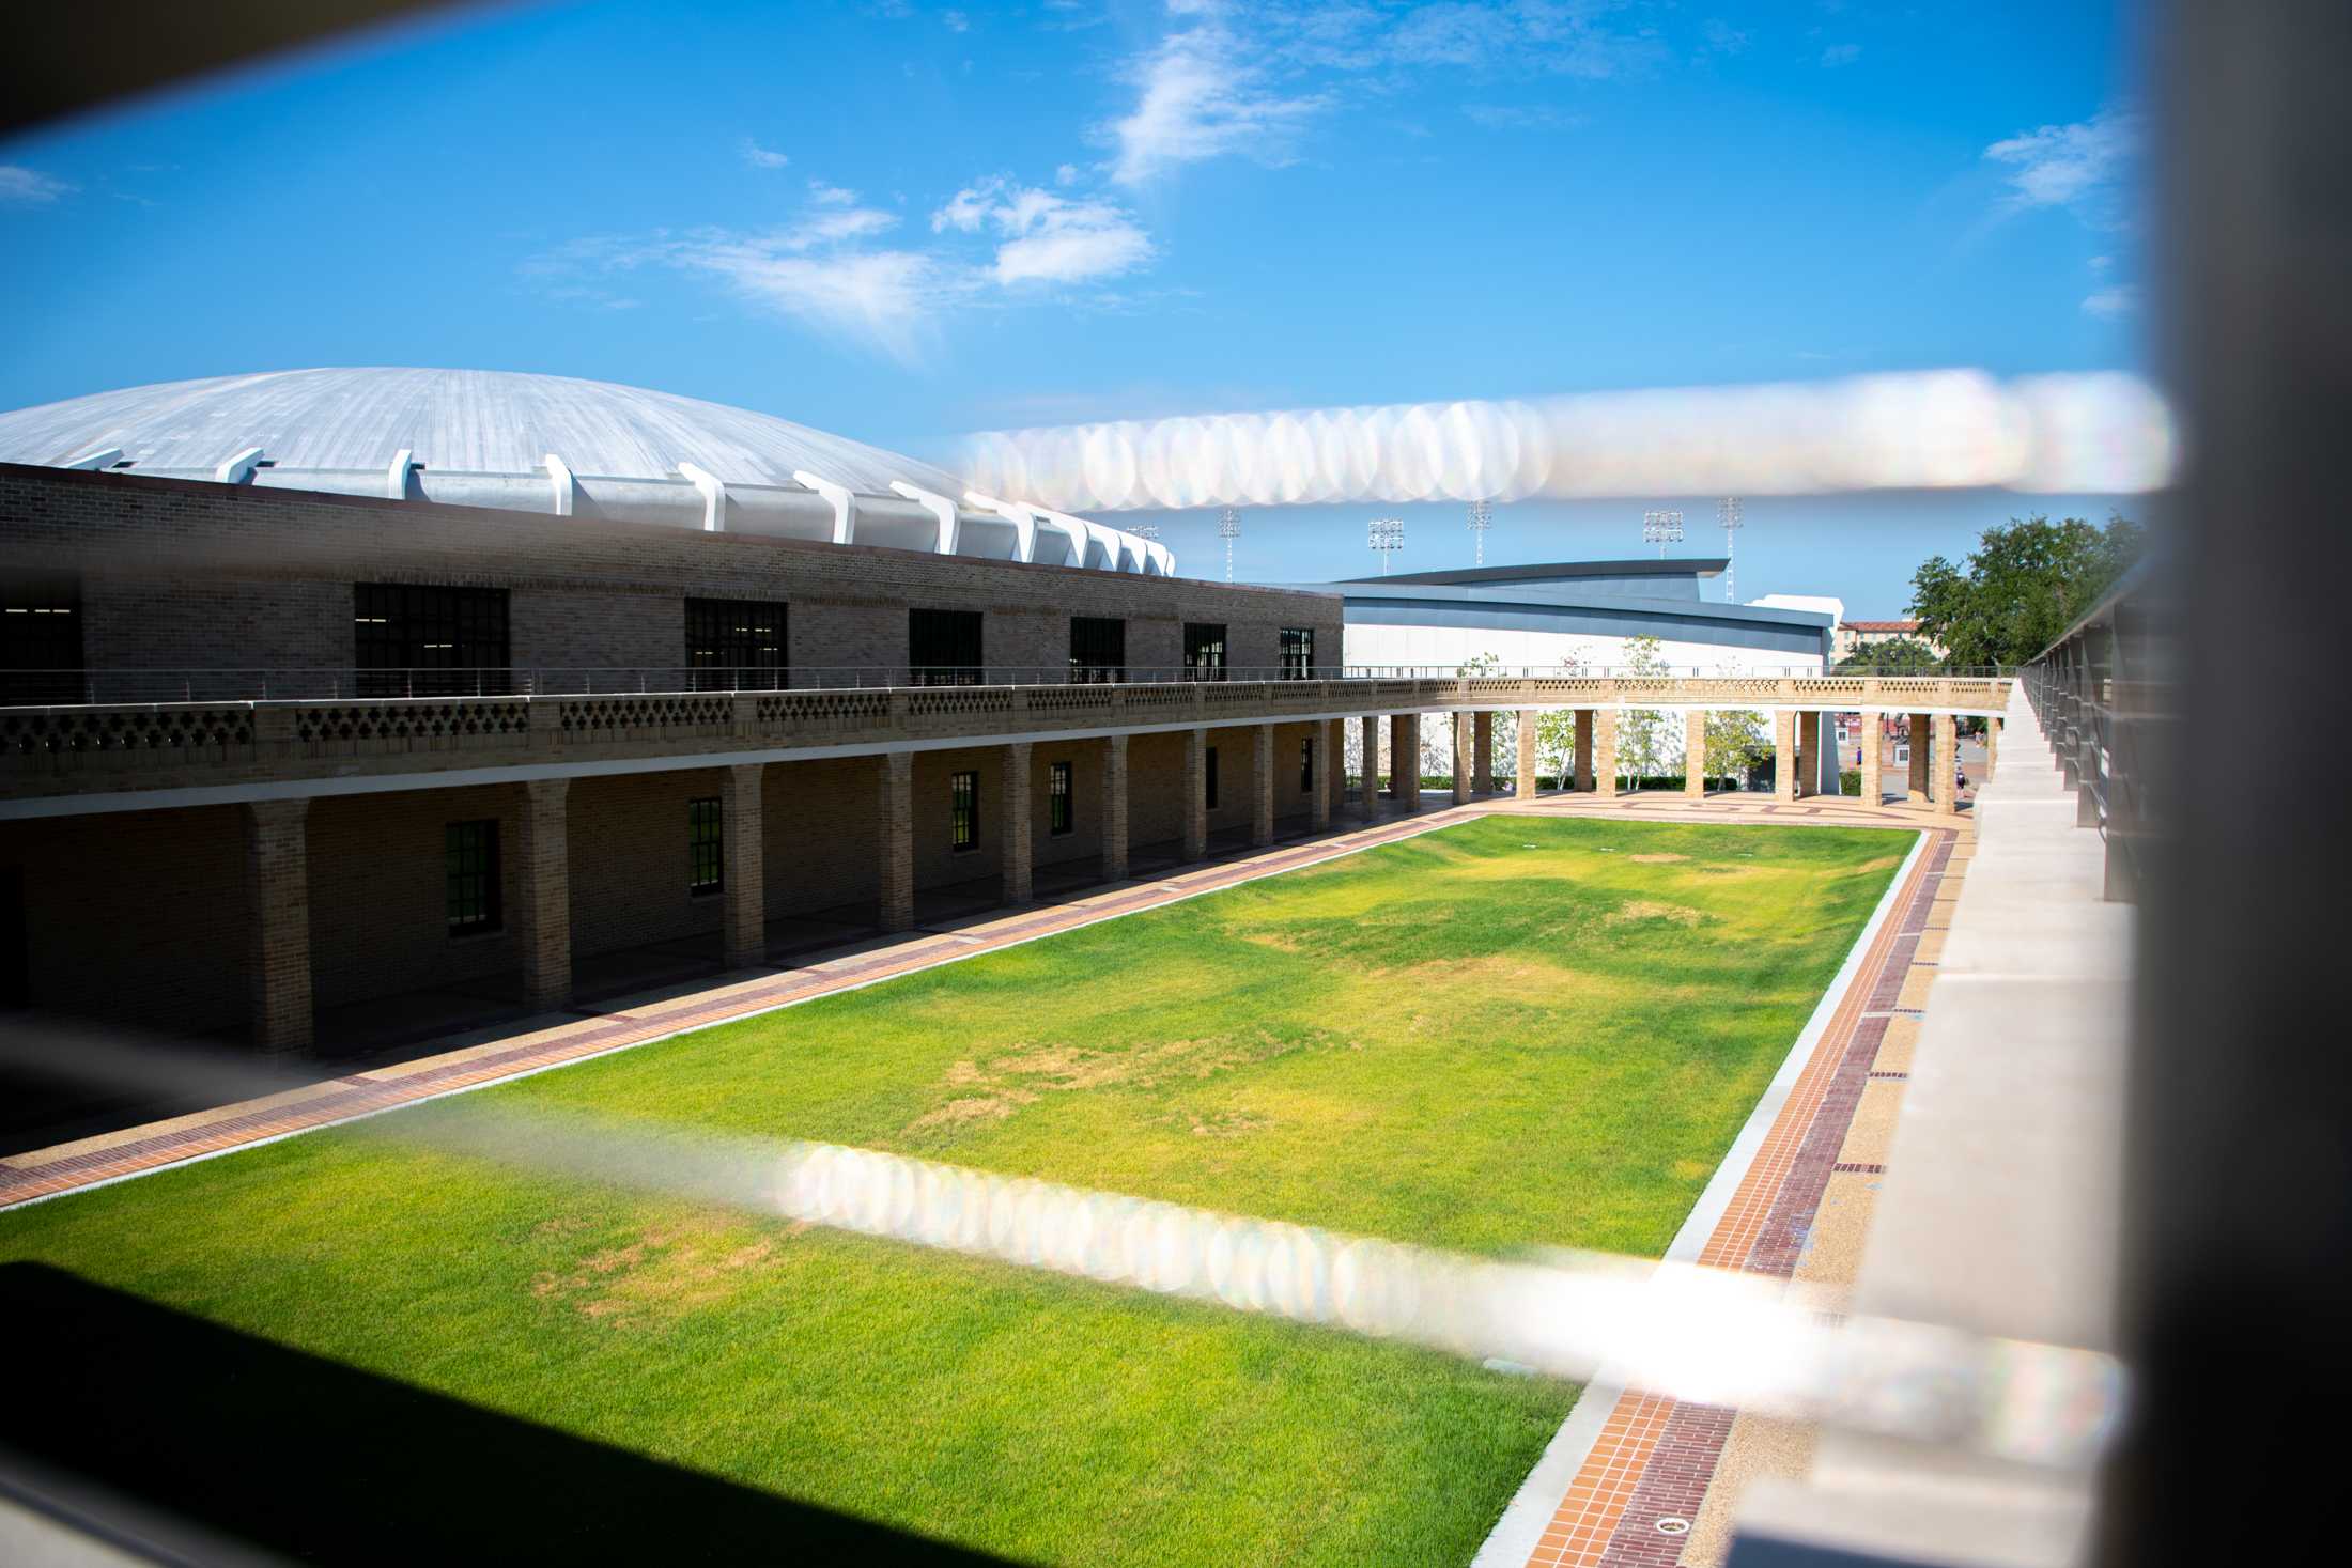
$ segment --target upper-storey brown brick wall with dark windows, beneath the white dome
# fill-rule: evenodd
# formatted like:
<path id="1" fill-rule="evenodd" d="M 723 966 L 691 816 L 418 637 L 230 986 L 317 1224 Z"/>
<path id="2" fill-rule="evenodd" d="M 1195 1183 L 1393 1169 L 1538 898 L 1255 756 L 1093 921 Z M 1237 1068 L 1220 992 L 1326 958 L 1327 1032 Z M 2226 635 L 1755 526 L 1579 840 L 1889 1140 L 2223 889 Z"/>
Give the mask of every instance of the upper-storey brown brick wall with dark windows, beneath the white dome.
<path id="1" fill-rule="evenodd" d="M 360 581 L 508 588 L 524 668 L 677 665 L 687 597 L 786 602 L 802 670 L 901 668 L 908 607 L 983 611 L 1000 665 L 1063 665 L 1070 616 L 1127 618 L 1138 668 L 1181 663 L 1185 621 L 1225 623 L 1235 665 L 1272 665 L 1284 625 L 1322 665 L 1341 646 L 1336 595 L 14 463 L 0 550 L 85 574 L 94 670 L 348 668 Z"/>

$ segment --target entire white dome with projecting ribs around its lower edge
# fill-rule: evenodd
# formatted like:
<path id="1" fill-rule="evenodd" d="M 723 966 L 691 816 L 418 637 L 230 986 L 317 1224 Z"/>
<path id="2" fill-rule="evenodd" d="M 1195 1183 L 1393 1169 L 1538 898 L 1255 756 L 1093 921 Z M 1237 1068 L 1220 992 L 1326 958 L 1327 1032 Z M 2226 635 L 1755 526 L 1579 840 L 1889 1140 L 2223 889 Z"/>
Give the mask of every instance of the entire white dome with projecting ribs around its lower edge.
<path id="1" fill-rule="evenodd" d="M 967 491 L 936 468 L 750 409 L 459 369 L 299 369 L 0 414 L 0 461 L 1167 576 L 1157 543 Z"/>

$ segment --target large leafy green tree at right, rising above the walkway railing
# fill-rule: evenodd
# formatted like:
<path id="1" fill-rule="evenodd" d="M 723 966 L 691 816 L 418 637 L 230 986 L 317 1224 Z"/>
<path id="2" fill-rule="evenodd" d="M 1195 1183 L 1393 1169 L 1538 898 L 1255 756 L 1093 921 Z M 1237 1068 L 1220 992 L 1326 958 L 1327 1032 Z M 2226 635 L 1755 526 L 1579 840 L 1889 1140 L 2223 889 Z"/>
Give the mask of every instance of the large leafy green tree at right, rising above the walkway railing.
<path id="1" fill-rule="evenodd" d="M 2145 529 L 2114 515 L 2009 520 L 1985 529 L 1966 569 L 1933 557 L 1912 574 L 1910 614 L 1955 665 L 2025 663 L 2098 604 L 2140 557 Z"/>

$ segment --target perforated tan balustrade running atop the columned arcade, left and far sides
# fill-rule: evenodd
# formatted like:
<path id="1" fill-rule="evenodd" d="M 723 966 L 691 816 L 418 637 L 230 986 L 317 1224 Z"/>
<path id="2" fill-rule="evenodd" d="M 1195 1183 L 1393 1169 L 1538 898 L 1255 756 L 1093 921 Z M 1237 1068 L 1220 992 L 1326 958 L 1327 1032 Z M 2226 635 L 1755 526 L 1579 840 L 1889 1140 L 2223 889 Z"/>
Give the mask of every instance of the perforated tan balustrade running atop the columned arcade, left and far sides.
<path id="1" fill-rule="evenodd" d="M 1430 675 L 0 708 L 0 797 L 1454 708 L 1999 712 L 2006 679 Z"/>

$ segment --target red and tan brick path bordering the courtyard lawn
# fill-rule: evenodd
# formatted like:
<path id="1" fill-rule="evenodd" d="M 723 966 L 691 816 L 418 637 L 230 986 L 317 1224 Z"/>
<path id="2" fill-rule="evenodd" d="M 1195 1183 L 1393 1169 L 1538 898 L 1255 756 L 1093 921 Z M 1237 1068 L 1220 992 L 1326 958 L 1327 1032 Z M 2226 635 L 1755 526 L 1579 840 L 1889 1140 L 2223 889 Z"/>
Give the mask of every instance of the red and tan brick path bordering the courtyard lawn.
<path id="1" fill-rule="evenodd" d="M 1804 1248 L 1806 1229 L 1839 1166 L 1870 1063 L 1891 1016 L 1905 1016 L 1903 992 L 1931 905 L 1943 886 L 1957 830 L 1922 806 L 1891 804 L 1750 804 L 1745 799 L 1689 802 L 1679 795 L 1628 795 L 1595 799 L 1545 795 L 1536 802 L 1489 797 L 1463 806 L 1392 816 L 1352 832 L 1225 860 L 1211 867 L 1110 886 L 1101 893 L 1047 910 L 1014 910 L 976 931 L 927 933 L 894 943 L 884 952 L 814 957 L 807 969 L 762 980 L 734 980 L 670 1001 L 623 1004 L 619 1011 L 534 1030 L 487 1046 L 428 1056 L 372 1072 L 355 1072 L 263 1100 L 247 1100 L 195 1117 L 85 1138 L 52 1150 L 0 1159 L 0 1208 L 38 1201 L 191 1159 L 205 1159 L 254 1143 L 285 1138 L 355 1117 L 414 1105 L 435 1095 L 494 1084 L 499 1079 L 586 1060 L 687 1030 L 790 1006 L 828 992 L 851 990 L 913 973 L 934 964 L 993 952 L 1014 943 L 1075 931 L 1098 919 L 1152 910 L 1258 877 L 1319 865 L 1381 844 L 1418 837 L 1451 823 L 1491 813 L 1531 816 L 1628 816 L 1632 820 L 1722 823 L 1757 820 L 1785 827 L 1915 827 L 1929 846 L 1912 865 L 1900 917 L 1886 922 L 1863 959 L 1860 973 L 1839 999 L 1830 1027 L 1773 1119 L 1731 1206 L 1717 1220 L 1700 1265 L 1736 1267 L 1788 1279 Z M 1661 1533 L 1661 1519 L 1698 1516 L 1731 1434 L 1733 1410 L 1686 1406 L 1656 1394 L 1628 1392 L 1609 1413 L 1599 1439 L 1569 1483 L 1566 1497 L 1545 1526 L 1529 1568 L 1602 1568 L 1618 1563 L 1677 1563 L 1686 1535 Z"/>

